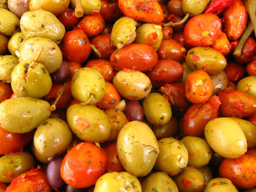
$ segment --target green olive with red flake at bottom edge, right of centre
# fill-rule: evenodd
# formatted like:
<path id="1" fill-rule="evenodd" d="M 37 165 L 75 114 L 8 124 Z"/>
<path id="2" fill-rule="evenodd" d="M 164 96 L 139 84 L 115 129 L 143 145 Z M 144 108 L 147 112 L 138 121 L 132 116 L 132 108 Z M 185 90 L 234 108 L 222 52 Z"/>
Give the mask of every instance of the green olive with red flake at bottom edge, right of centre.
<path id="1" fill-rule="evenodd" d="M 179 192 L 202 192 L 206 185 L 202 172 L 192 166 L 186 166 L 182 173 L 174 177 L 174 182 Z"/>

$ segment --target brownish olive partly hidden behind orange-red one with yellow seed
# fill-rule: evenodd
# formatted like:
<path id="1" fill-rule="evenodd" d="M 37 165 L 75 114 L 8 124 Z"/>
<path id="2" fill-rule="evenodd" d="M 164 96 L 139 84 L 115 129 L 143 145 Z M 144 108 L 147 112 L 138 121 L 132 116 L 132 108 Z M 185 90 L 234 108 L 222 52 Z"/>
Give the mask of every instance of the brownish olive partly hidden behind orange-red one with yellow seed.
<path id="1" fill-rule="evenodd" d="M 229 84 L 229 79 L 226 76 L 226 72 L 224 70 L 218 72 L 217 74 L 210 75 L 211 82 L 213 82 L 213 93 L 218 94 L 218 92 L 223 91 Z"/>

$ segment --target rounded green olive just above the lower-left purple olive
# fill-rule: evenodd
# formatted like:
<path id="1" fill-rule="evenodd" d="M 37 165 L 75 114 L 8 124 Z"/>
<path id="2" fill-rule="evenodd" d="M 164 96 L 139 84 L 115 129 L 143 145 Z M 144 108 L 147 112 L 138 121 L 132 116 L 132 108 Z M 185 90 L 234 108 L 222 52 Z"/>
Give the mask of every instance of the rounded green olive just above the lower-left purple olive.
<path id="1" fill-rule="evenodd" d="M 54 158 L 66 151 L 72 140 L 68 124 L 60 118 L 48 118 L 34 133 L 34 147 L 48 158 Z"/>

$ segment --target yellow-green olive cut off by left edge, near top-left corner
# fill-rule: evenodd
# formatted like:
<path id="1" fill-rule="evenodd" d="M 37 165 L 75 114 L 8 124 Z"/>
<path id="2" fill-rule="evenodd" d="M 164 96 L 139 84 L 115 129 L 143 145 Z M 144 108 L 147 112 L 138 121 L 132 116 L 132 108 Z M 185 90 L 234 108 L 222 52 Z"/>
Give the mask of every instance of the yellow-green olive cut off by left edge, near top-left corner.
<path id="1" fill-rule="evenodd" d="M 11 36 L 20 30 L 19 18 L 10 10 L 0 8 L 0 33 Z"/>

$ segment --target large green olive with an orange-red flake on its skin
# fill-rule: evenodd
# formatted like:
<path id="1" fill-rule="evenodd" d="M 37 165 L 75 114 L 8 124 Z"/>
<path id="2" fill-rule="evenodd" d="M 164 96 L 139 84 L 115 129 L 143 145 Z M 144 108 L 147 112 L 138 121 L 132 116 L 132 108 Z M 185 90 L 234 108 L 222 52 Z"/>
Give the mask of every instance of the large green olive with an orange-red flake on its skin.
<path id="1" fill-rule="evenodd" d="M 66 110 L 66 120 L 74 134 L 85 142 L 106 142 L 110 137 L 110 119 L 96 106 L 74 104 Z"/>

